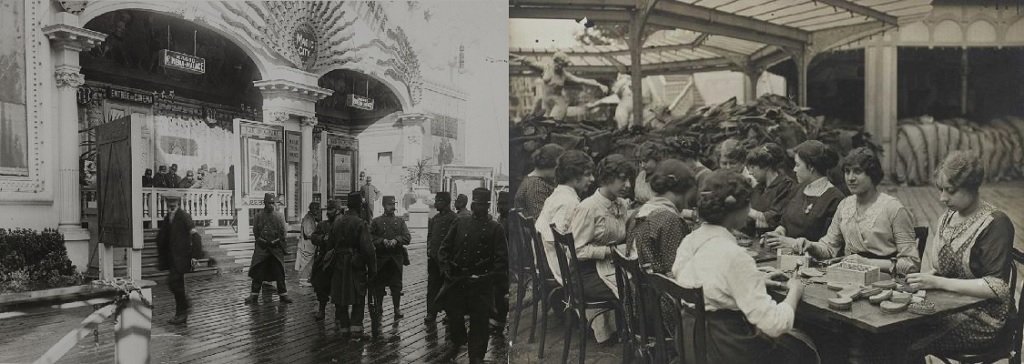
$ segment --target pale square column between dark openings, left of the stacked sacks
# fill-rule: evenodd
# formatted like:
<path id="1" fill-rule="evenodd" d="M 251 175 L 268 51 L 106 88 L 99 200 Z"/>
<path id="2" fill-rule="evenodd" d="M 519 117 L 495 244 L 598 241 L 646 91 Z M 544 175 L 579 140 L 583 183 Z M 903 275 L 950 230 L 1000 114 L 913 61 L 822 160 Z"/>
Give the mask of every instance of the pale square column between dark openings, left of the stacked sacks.
<path id="1" fill-rule="evenodd" d="M 897 133 L 897 51 L 895 46 L 864 47 L 864 129 L 885 149 L 883 168 L 892 175 Z"/>

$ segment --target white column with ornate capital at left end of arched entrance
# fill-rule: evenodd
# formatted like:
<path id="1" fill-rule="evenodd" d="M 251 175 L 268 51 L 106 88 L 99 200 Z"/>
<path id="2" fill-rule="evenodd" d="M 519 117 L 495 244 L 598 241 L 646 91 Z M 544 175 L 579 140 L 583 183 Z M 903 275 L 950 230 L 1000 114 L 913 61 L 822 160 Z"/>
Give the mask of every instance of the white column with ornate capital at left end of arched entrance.
<path id="1" fill-rule="evenodd" d="M 54 205 L 59 215 L 57 231 L 65 237 L 68 256 L 80 271 L 89 260 L 89 231 L 82 229 L 82 198 L 79 186 L 78 87 L 85 83 L 79 71 L 79 52 L 88 51 L 106 36 L 77 27 L 78 16 L 59 13 L 56 24 L 43 28 L 53 48 L 54 83 L 57 97 L 57 165 L 59 175 Z"/>

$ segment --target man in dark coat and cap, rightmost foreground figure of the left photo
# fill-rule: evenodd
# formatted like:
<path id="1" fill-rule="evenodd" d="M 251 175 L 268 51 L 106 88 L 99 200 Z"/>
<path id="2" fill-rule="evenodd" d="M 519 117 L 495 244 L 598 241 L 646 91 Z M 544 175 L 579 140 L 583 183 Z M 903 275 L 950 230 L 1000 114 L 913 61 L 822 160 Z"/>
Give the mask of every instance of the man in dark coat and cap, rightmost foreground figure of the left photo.
<path id="1" fill-rule="evenodd" d="M 494 305 L 494 286 L 508 280 L 505 229 L 487 213 L 490 191 L 473 190 L 471 216 L 459 216 L 437 251 L 444 286 L 437 299 L 447 312 L 450 356 L 469 343 L 469 362 L 482 363 L 487 352 L 487 319 Z M 469 335 L 465 315 L 469 314 Z"/>

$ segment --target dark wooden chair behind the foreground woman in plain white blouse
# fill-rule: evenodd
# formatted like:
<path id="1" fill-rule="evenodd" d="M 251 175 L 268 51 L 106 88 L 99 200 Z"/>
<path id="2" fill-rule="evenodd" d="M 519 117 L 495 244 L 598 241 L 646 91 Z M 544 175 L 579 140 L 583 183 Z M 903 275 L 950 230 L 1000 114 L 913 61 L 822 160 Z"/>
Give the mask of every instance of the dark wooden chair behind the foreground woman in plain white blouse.
<path id="1" fill-rule="evenodd" d="M 693 358 L 696 364 L 708 363 L 708 325 L 705 313 L 703 288 L 683 288 L 676 284 L 671 278 L 662 274 L 648 276 L 648 282 L 654 289 L 659 304 L 668 304 L 671 308 L 671 317 L 662 317 L 663 310 L 657 310 L 660 322 L 665 323 L 657 330 L 654 330 L 656 342 L 675 342 L 678 362 L 686 362 L 685 340 L 693 340 Z M 683 325 L 683 313 L 694 319 L 693 332 L 685 332 Z M 668 333 L 668 335 L 666 335 Z M 666 346 L 658 346 L 656 350 L 657 363 L 668 363 L 671 361 Z"/>

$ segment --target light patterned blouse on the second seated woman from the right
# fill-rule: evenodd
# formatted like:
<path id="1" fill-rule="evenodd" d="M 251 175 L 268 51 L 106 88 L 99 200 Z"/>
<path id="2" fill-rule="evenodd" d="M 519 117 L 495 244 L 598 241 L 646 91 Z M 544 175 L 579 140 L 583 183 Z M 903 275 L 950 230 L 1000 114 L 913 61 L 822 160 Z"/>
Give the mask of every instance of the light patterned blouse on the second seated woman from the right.
<path id="1" fill-rule="evenodd" d="M 807 250 L 818 259 L 844 253 L 869 258 L 896 257 L 901 267 L 897 272 L 904 273 L 916 271 L 921 265 L 910 212 L 899 200 L 886 194 L 879 194 L 861 213 L 857 213 L 856 196 L 843 199 L 828 233 L 821 241 L 808 242 Z"/>

